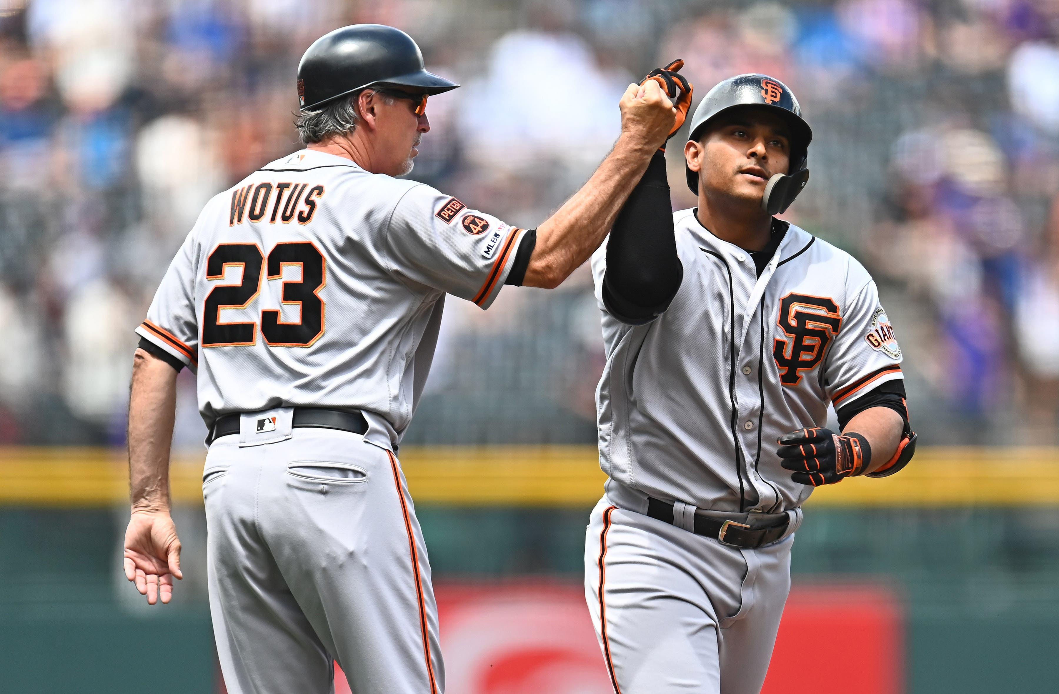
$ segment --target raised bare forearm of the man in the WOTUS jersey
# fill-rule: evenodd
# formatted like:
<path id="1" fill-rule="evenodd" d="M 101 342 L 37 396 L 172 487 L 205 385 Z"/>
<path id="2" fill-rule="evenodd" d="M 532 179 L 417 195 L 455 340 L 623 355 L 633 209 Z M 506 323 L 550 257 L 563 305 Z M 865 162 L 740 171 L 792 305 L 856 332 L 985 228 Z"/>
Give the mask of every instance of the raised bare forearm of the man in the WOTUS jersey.
<path id="1" fill-rule="evenodd" d="M 524 285 L 557 287 L 592 255 L 657 150 L 657 143 L 622 134 L 581 190 L 537 227 Z"/>

